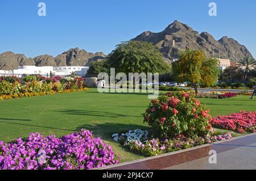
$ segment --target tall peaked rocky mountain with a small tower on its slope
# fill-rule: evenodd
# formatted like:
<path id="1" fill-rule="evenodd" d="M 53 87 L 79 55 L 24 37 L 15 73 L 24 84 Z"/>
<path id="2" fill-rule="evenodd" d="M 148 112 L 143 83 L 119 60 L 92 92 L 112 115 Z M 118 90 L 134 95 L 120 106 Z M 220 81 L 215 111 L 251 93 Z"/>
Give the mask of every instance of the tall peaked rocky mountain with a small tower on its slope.
<path id="1" fill-rule="evenodd" d="M 217 41 L 208 32 L 200 34 L 187 24 L 180 23 L 177 20 L 162 32 L 146 31 L 133 40 L 153 43 L 163 53 L 167 62 L 172 62 L 178 58 L 177 53 L 184 49 L 201 49 L 204 50 L 207 57 L 228 58 L 232 61 L 252 57 L 244 45 L 239 44 L 232 38 L 224 36 Z"/>

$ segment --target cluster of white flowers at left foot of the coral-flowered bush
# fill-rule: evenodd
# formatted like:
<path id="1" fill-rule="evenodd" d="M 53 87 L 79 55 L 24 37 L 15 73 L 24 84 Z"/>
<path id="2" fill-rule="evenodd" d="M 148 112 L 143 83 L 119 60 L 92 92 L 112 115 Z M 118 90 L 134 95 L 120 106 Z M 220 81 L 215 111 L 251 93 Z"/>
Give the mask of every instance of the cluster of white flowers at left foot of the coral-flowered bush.
<path id="1" fill-rule="evenodd" d="M 115 142 L 123 139 L 123 142 L 128 143 L 131 141 L 146 141 L 148 136 L 147 131 L 142 131 L 141 129 L 130 130 L 127 133 L 122 133 L 120 136 L 118 133 L 112 134 L 113 140 Z"/>

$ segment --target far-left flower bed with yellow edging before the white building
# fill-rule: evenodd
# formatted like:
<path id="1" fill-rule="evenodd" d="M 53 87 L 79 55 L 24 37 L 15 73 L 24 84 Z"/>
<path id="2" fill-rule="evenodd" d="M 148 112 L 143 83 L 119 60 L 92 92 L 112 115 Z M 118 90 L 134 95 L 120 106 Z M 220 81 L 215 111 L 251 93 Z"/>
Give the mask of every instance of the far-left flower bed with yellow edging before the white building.
<path id="1" fill-rule="evenodd" d="M 1 77 L 0 100 L 88 90 L 82 77 Z"/>

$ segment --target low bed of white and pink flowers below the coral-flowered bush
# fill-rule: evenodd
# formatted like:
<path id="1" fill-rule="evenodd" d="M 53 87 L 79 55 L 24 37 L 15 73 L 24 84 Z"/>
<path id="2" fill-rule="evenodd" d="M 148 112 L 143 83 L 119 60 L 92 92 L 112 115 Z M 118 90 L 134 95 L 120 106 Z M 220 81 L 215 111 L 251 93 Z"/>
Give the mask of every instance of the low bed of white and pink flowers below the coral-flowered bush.
<path id="1" fill-rule="evenodd" d="M 120 135 L 118 133 L 112 135 L 114 141 L 120 142 L 127 149 L 145 157 L 151 157 L 216 141 L 229 140 L 234 136 L 234 133 L 212 132 L 211 134 L 196 139 L 186 138 L 183 134 L 175 138 L 164 140 L 159 140 L 158 138 L 150 138 L 147 140 L 147 136 L 147 131 L 138 129 Z"/>

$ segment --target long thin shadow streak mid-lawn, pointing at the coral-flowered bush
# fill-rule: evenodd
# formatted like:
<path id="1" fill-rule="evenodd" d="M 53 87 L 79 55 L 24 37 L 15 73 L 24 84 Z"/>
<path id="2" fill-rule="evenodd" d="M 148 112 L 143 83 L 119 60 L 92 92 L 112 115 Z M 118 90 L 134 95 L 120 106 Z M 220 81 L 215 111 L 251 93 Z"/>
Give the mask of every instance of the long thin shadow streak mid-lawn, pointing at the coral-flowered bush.
<path id="1" fill-rule="evenodd" d="M 68 115 L 81 115 L 81 116 L 94 116 L 94 117 L 141 117 L 141 116 L 130 116 L 119 113 L 106 112 L 106 111 L 86 111 L 86 110 L 59 110 L 56 112 L 67 113 Z"/>

